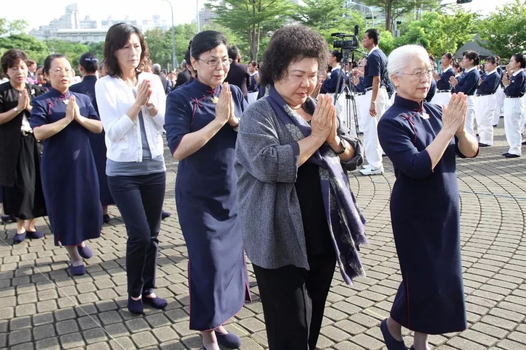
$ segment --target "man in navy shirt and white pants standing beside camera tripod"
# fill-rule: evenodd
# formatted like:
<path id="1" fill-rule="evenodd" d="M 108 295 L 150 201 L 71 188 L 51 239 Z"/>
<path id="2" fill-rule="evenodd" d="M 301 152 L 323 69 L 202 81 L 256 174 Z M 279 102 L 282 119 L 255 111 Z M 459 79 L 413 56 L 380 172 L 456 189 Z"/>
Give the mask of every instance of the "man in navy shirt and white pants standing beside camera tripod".
<path id="1" fill-rule="evenodd" d="M 382 114 L 386 111 L 387 101 L 387 56 L 380 50 L 380 32 L 378 29 L 367 29 L 363 36 L 363 47 L 369 50 L 367 64 L 363 72 L 365 100 L 360 107 L 363 121 L 363 151 L 369 163 L 360 173 L 362 175 L 383 174 L 382 147 L 378 141 L 376 127 Z"/>

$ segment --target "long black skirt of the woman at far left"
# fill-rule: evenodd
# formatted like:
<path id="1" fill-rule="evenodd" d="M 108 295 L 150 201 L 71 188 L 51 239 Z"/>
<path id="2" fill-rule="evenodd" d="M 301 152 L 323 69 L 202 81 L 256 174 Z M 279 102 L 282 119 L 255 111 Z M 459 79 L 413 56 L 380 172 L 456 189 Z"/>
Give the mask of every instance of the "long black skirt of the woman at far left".
<path id="1" fill-rule="evenodd" d="M 23 220 L 46 216 L 40 159 L 33 134 L 20 138 L 15 176 L 13 187 L 3 187 L 4 213 Z"/>

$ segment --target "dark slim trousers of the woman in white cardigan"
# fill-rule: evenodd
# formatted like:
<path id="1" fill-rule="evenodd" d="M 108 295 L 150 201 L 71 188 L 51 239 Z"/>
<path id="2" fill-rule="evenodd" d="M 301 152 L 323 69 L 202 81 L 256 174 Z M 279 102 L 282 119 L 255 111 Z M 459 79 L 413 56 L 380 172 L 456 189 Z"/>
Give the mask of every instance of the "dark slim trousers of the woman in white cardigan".
<path id="1" fill-rule="evenodd" d="M 123 216 L 128 294 L 149 294 L 155 288 L 155 266 L 166 188 L 166 173 L 108 176 L 108 187 Z"/>

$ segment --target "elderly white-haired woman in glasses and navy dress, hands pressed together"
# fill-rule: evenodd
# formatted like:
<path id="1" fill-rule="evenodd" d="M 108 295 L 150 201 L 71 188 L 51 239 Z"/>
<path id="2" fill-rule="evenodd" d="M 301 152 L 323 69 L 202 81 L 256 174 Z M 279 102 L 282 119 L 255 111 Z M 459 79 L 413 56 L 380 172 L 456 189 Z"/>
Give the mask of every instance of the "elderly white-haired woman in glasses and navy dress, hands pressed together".
<path id="1" fill-rule="evenodd" d="M 402 282 L 380 329 L 388 350 L 406 349 L 402 326 L 414 331 L 411 350 L 429 350 L 429 334 L 467 326 L 455 156 L 477 156 L 478 142 L 464 128 L 463 93 L 447 107 L 424 101 L 433 72 L 426 50 L 393 50 L 388 71 L 397 94 L 378 138 L 395 168 L 391 225 Z"/>

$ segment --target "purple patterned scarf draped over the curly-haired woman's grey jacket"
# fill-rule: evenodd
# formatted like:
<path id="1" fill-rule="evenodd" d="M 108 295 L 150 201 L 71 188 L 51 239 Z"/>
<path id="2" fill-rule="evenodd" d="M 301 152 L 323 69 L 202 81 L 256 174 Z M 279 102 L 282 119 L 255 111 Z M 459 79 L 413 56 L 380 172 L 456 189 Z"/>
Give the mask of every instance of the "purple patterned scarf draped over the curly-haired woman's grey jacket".
<path id="1" fill-rule="evenodd" d="M 310 125 L 290 108 L 273 86 L 269 89 L 267 101 L 296 141 L 310 135 Z M 316 108 L 310 97 L 305 104 L 309 110 Z M 329 145 L 324 143 L 307 162 L 319 167 L 323 206 L 341 276 L 345 283 L 351 284 L 353 278 L 365 275 L 358 257 L 358 246 L 368 243 L 366 220 L 356 204 L 340 158 Z"/>

